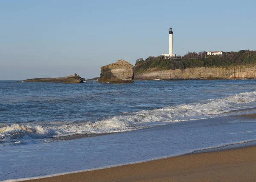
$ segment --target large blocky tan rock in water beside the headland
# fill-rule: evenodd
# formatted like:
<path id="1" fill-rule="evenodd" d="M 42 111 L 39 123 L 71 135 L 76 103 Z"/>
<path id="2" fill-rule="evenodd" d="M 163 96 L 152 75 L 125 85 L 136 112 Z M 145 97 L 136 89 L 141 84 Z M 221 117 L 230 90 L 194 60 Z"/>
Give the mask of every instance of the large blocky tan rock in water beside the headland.
<path id="1" fill-rule="evenodd" d="M 125 60 L 118 60 L 101 67 L 101 74 L 98 82 L 109 83 L 132 83 L 134 78 L 134 67 Z"/>

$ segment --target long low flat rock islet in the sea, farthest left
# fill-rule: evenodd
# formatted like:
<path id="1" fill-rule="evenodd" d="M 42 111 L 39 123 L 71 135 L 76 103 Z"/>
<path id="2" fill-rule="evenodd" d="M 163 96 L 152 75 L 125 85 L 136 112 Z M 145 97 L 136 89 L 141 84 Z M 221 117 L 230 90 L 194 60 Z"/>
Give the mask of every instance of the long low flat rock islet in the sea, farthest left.
<path id="1" fill-rule="evenodd" d="M 83 79 L 77 75 L 73 74 L 67 77 L 58 78 L 33 78 L 28 80 L 23 80 L 22 82 L 63 82 L 63 83 L 82 83 Z"/>

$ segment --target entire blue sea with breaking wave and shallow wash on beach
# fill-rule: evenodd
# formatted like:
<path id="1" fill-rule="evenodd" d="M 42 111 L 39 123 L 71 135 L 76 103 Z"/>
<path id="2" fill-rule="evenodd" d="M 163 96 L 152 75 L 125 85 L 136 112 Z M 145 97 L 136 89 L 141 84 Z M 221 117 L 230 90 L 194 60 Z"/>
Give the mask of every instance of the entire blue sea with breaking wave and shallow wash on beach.
<path id="1" fill-rule="evenodd" d="M 256 80 L 0 81 L 0 181 L 255 145 L 254 113 Z"/>

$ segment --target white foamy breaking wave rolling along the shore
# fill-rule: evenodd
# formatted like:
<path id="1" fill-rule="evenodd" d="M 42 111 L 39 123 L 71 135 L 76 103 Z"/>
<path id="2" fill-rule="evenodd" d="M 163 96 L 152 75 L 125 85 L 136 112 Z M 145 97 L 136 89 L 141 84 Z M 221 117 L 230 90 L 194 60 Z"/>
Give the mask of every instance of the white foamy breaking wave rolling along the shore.
<path id="1" fill-rule="evenodd" d="M 17 142 L 20 139 L 38 139 L 45 137 L 65 136 L 70 134 L 93 133 L 104 134 L 123 132 L 146 128 L 150 125 L 161 125 L 165 122 L 179 122 L 193 120 L 191 117 L 212 117 L 218 114 L 228 113 L 235 109 L 234 105 L 256 102 L 256 91 L 244 92 L 234 96 L 202 100 L 192 104 L 169 106 L 148 111 L 123 113 L 110 119 L 96 122 L 83 122 L 54 125 L 29 125 L 12 124 L 0 128 L 0 142 Z M 60 122 L 61 123 L 61 122 Z M 41 123 L 43 124 L 43 123 Z M 26 142 L 23 142 L 26 143 Z"/>

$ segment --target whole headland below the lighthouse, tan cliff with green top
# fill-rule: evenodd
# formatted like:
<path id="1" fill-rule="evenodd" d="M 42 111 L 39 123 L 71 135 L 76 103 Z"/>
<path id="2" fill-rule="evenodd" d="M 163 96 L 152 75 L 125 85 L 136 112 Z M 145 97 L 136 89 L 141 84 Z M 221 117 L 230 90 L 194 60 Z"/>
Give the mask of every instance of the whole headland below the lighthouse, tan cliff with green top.
<path id="1" fill-rule="evenodd" d="M 207 56 L 206 52 L 188 53 L 183 57 L 163 56 L 138 59 L 134 80 L 214 80 L 256 78 L 256 51 L 230 52 Z"/>

